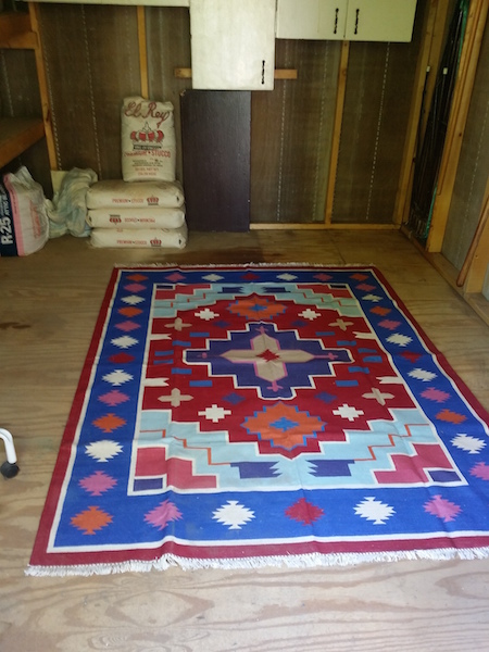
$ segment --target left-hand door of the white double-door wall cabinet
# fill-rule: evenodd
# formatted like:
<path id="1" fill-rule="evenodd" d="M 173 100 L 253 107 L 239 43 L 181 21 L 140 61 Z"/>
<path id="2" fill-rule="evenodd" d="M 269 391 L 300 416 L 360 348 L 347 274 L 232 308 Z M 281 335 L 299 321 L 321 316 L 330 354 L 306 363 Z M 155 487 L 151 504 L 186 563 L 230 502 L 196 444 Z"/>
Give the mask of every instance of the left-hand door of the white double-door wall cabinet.
<path id="1" fill-rule="evenodd" d="M 342 39 L 348 0 L 277 0 L 277 38 Z"/>

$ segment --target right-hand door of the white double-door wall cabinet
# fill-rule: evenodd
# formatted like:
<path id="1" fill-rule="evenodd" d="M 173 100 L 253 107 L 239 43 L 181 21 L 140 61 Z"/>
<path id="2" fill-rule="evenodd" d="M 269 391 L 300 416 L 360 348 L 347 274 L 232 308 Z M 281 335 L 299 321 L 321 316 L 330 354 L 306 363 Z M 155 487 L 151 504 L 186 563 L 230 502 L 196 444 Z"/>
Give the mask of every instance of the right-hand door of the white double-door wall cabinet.
<path id="1" fill-rule="evenodd" d="M 410 41 L 416 0 L 349 0 L 347 40 Z"/>

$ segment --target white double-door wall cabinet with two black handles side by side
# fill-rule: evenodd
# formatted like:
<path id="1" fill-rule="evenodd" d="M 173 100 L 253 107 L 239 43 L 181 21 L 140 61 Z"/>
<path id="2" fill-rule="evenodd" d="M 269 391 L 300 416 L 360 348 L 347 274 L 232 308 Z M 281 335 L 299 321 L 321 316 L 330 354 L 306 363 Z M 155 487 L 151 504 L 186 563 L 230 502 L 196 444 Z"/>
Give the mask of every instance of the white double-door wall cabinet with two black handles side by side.
<path id="1" fill-rule="evenodd" d="M 277 0 L 277 38 L 410 41 L 416 0 Z"/>

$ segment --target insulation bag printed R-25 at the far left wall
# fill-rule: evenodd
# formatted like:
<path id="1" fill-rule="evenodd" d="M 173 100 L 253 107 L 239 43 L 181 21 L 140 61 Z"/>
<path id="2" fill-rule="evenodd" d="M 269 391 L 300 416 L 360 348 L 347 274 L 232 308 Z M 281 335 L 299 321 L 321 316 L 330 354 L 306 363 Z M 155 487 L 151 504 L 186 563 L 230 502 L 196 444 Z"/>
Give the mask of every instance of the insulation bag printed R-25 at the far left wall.
<path id="1" fill-rule="evenodd" d="M 0 255 L 28 255 L 49 238 L 42 186 L 27 167 L 4 174 L 0 181 Z"/>

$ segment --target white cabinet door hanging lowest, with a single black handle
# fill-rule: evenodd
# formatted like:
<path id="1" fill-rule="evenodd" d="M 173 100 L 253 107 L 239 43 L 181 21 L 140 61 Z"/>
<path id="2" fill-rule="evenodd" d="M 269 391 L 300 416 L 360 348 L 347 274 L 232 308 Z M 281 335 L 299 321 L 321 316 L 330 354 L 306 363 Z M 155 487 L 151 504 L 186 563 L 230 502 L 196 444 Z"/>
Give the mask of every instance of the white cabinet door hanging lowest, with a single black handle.
<path id="1" fill-rule="evenodd" d="M 275 0 L 190 0 L 192 87 L 272 90 Z"/>

